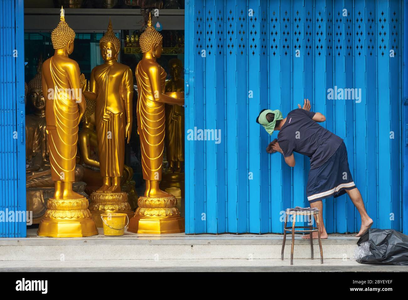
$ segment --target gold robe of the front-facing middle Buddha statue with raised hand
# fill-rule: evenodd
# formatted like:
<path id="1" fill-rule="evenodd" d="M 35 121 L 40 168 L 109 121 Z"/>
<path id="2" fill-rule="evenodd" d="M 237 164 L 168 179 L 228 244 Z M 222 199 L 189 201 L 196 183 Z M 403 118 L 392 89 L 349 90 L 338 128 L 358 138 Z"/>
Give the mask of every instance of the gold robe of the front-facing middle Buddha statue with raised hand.
<path id="1" fill-rule="evenodd" d="M 115 68 L 119 65 L 115 64 Z M 95 87 L 91 86 L 91 91 L 102 87 L 102 90 L 97 91 L 95 126 L 100 172 L 103 177 L 123 175 L 126 128 L 124 99 L 128 91 L 133 92 L 133 74 L 129 67 L 121 66 L 123 76 L 110 74 L 112 64 L 101 64 L 95 67 Z"/>

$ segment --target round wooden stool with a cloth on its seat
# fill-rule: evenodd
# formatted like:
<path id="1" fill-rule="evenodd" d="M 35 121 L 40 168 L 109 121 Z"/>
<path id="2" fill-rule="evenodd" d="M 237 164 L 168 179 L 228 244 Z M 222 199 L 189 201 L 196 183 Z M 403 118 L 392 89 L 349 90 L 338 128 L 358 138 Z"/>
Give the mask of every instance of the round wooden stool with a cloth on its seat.
<path id="1" fill-rule="evenodd" d="M 286 227 L 288 222 L 288 215 L 293 215 L 293 222 L 292 227 Z M 296 216 L 316 216 L 316 224 L 317 227 L 310 226 L 295 226 Z M 313 224 L 313 223 L 312 223 Z M 309 228 L 308 230 L 295 230 L 295 228 Z M 292 248 L 290 250 L 290 264 L 293 264 L 293 248 L 295 246 L 295 233 L 310 233 L 310 251 L 311 257 L 313 259 L 313 232 L 317 231 L 317 235 L 319 237 L 319 247 L 320 247 L 320 263 L 323 263 L 323 250 L 322 250 L 322 240 L 320 240 L 320 225 L 319 225 L 319 211 L 317 210 L 310 210 L 310 211 L 294 211 L 293 209 L 286 209 L 286 216 L 285 216 L 285 226 L 283 232 L 283 244 L 282 244 L 282 255 L 281 260 L 283 260 L 283 252 L 285 249 L 285 242 L 286 242 L 286 231 L 292 232 Z"/>

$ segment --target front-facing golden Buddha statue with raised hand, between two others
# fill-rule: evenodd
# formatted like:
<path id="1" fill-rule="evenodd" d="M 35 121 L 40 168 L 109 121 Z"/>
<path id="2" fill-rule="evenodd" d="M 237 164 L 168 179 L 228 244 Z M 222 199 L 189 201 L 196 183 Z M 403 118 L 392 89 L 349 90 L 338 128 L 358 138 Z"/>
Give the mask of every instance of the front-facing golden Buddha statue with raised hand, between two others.
<path id="1" fill-rule="evenodd" d="M 103 184 L 91 194 L 90 211 L 98 227 L 101 213 L 115 212 L 133 215 L 126 192 L 120 183 L 124 170 L 125 137 L 129 143 L 133 113 L 133 74 L 120 64 L 120 40 L 115 36 L 109 19 L 108 30 L 99 41 L 104 64 L 91 71 L 89 92 L 84 95 L 96 100 L 95 124 L 98 140 L 99 168 Z"/>

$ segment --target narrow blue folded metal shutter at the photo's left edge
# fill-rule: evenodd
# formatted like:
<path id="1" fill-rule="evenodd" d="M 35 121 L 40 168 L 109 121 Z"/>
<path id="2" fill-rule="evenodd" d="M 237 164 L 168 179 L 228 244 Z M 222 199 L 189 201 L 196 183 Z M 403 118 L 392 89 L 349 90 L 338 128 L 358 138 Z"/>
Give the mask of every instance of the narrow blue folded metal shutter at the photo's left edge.
<path id="1" fill-rule="evenodd" d="M 0 237 L 26 236 L 24 3 L 0 3 Z"/>

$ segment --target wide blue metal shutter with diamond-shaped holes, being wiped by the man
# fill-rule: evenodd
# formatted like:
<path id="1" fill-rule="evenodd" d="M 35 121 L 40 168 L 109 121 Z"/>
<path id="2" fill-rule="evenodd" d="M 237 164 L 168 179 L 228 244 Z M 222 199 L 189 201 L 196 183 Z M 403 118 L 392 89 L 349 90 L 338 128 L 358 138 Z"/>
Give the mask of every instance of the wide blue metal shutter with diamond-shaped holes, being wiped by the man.
<path id="1" fill-rule="evenodd" d="M 398 0 L 186 2 L 186 131 L 221 130 L 219 144 L 186 133 L 186 233 L 282 233 L 282 211 L 308 206 L 309 159 L 268 155 L 277 133 L 255 123 L 303 98 L 344 139 L 373 226 L 402 230 L 403 12 Z M 328 100 L 335 86 L 361 89 L 361 102 Z M 323 213 L 329 233 L 359 228 L 346 195 Z"/>

